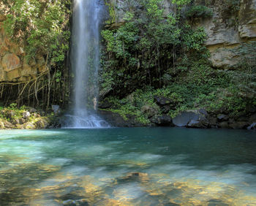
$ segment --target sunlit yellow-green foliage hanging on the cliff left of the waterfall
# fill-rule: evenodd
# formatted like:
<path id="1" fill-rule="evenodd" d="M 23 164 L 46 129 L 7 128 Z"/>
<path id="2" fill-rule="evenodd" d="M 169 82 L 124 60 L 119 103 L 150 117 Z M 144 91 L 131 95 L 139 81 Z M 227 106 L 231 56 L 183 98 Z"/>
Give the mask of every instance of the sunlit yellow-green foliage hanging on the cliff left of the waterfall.
<path id="1" fill-rule="evenodd" d="M 69 21 L 69 6 L 68 0 L 48 3 L 42 0 L 14 1 L 4 28 L 10 37 L 25 45 L 28 60 L 39 53 L 48 55 L 52 64 L 63 62 L 69 50 L 70 34 L 64 29 Z"/>

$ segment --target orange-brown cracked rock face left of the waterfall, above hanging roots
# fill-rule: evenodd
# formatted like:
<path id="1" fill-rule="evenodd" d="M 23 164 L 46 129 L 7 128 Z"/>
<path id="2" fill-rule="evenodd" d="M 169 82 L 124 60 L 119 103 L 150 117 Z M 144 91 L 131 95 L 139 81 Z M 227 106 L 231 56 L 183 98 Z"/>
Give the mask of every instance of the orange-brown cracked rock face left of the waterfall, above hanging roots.
<path id="1" fill-rule="evenodd" d="M 26 82 L 46 72 L 45 58 L 36 56 L 26 62 L 23 45 L 7 37 L 4 31 L 4 15 L 0 15 L 0 82 Z"/>

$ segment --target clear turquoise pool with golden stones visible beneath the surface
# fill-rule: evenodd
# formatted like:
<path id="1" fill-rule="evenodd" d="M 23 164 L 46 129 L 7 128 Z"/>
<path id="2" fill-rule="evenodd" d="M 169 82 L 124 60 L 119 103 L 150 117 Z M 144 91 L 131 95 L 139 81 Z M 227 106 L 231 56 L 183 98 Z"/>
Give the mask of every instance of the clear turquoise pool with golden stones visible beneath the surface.
<path id="1" fill-rule="evenodd" d="M 0 205 L 256 205 L 256 133 L 0 131 Z"/>

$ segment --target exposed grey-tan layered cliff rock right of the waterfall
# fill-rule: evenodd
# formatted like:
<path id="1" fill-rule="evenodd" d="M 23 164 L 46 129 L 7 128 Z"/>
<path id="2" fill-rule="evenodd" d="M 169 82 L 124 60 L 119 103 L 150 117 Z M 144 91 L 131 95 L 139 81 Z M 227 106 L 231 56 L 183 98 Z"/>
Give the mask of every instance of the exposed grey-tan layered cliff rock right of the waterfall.
<path id="1" fill-rule="evenodd" d="M 236 4 L 236 2 L 238 4 Z M 197 3 L 202 3 L 196 0 Z M 129 5 L 124 0 L 110 0 L 115 10 L 116 19 L 113 25 L 120 26 L 124 23 L 124 13 Z M 234 6 L 236 5 L 236 6 Z M 238 47 L 243 42 L 255 41 L 256 38 L 256 0 L 207 1 L 207 7 L 211 8 L 212 18 L 196 19 L 192 24 L 195 28 L 203 26 L 208 39 L 206 47 L 211 53 L 209 60 L 216 68 L 233 68 L 241 61 L 238 55 Z M 132 9 L 141 9 L 140 7 Z M 171 1 L 163 0 L 162 9 L 165 13 L 175 12 Z"/>

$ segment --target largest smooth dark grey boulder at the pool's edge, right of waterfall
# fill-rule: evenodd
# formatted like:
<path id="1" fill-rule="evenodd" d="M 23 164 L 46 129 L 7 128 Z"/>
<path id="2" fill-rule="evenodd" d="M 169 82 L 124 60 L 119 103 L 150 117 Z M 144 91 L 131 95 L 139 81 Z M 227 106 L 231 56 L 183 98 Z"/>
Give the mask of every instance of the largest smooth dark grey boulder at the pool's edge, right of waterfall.
<path id="1" fill-rule="evenodd" d="M 204 115 L 200 110 L 187 110 L 181 112 L 175 118 L 173 118 L 173 124 L 175 126 L 188 126 L 196 128 L 207 128 L 208 120 L 207 115 Z"/>

